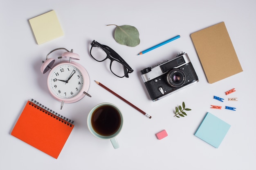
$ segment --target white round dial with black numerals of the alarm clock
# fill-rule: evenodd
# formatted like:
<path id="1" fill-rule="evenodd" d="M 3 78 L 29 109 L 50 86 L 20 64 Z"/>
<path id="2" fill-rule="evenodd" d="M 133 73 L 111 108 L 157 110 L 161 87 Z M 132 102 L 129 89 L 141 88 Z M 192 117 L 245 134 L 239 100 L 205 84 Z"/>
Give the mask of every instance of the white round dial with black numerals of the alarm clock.
<path id="1" fill-rule="evenodd" d="M 59 100 L 74 100 L 84 90 L 84 76 L 72 63 L 63 63 L 54 67 L 48 76 L 48 88 Z"/>

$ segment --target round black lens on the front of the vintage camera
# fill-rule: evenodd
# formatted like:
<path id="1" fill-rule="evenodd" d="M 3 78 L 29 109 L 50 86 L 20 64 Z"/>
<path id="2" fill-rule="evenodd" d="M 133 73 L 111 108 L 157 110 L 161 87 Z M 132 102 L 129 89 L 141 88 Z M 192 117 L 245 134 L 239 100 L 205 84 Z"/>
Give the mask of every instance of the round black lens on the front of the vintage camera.
<path id="1" fill-rule="evenodd" d="M 180 87 L 185 82 L 184 72 L 174 69 L 166 75 L 167 83 L 173 87 Z"/>

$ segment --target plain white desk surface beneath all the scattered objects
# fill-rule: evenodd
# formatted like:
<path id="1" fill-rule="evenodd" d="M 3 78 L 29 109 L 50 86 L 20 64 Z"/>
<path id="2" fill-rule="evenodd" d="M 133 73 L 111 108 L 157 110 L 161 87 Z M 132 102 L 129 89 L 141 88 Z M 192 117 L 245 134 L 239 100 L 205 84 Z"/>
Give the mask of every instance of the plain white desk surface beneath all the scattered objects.
<path id="1" fill-rule="evenodd" d="M 255 46 L 256 1 L 254 0 L 1 0 L 1 170 L 254 170 L 256 169 L 255 113 Z M 64 36 L 37 45 L 28 20 L 55 10 Z M 243 72 L 217 83 L 209 84 L 204 75 L 190 35 L 224 21 Z M 113 38 L 114 26 L 132 25 L 140 33 L 140 44 L 128 47 Z M 145 50 L 166 39 L 181 35 L 169 44 L 144 55 Z M 95 39 L 119 53 L 134 69 L 129 78 L 112 75 L 109 61 L 99 63 L 90 57 L 90 43 Z M 41 61 L 54 48 L 74 49 L 90 74 L 89 94 L 74 104 L 65 104 L 50 96 L 47 74 L 40 72 Z M 140 70 L 177 52 L 186 52 L 199 77 L 199 82 L 152 102 L 141 79 Z M 119 98 L 94 83 L 103 83 L 126 100 L 152 116 L 148 119 Z M 218 105 L 213 96 L 224 97 L 235 88 L 231 105 L 236 111 L 211 109 Z M 75 121 L 58 159 L 37 150 L 10 135 L 25 102 L 35 98 L 47 107 Z M 175 118 L 173 110 L 182 102 L 191 108 L 188 116 Z M 124 115 L 124 126 L 117 137 L 120 148 L 110 141 L 92 136 L 86 118 L 94 105 L 111 102 Z M 225 107 L 225 104 L 223 104 Z M 207 112 L 231 125 L 219 148 L 195 137 Z M 166 130 L 168 136 L 158 140 L 155 134 Z"/>

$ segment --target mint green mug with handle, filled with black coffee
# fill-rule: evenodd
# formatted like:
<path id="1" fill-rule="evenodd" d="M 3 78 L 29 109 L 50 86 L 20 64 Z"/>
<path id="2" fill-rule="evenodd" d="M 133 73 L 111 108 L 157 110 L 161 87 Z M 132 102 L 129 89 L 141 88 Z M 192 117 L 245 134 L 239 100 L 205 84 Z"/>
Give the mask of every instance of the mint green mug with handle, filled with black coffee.
<path id="1" fill-rule="evenodd" d="M 104 102 L 94 106 L 88 114 L 87 125 L 92 135 L 110 140 L 115 149 L 119 148 L 116 136 L 122 129 L 123 116 L 116 105 Z"/>

